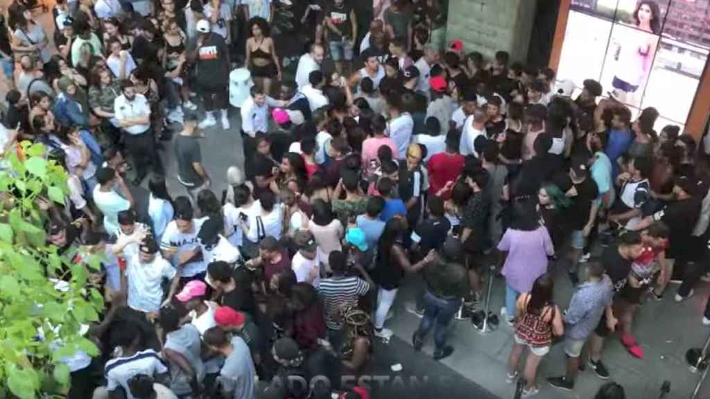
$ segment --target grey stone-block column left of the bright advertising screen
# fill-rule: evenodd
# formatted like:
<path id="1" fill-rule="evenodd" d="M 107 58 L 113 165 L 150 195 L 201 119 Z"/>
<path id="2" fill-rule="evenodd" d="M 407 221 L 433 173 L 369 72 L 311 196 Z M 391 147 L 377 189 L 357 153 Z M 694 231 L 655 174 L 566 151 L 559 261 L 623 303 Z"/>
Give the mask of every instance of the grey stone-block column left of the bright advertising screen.
<path id="1" fill-rule="evenodd" d="M 466 53 L 490 60 L 498 50 L 511 60 L 528 56 L 537 0 L 449 0 L 447 45 L 462 40 Z"/>

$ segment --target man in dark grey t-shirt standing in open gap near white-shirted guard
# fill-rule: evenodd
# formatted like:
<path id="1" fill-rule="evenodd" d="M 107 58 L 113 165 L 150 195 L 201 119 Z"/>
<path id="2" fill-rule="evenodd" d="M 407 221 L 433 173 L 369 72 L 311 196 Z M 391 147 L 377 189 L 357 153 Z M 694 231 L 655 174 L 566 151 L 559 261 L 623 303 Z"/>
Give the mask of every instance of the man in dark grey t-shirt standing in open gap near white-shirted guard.
<path id="1" fill-rule="evenodd" d="M 182 131 L 175 138 L 175 160 L 178 163 L 178 181 L 185 187 L 193 201 L 197 193 L 209 188 L 212 183 L 202 165 L 200 126 L 193 116 L 185 116 Z"/>

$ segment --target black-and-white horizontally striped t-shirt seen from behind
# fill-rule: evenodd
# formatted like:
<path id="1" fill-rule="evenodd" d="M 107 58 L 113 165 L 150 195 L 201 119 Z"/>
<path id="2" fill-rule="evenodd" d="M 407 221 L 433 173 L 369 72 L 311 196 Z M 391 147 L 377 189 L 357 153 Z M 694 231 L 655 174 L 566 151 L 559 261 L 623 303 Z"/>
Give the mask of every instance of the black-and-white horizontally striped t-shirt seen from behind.
<path id="1" fill-rule="evenodd" d="M 342 329 L 337 312 L 341 305 L 357 305 L 358 297 L 365 295 L 370 284 L 359 277 L 323 278 L 316 285 L 316 290 L 323 300 L 325 324 L 329 329 Z"/>

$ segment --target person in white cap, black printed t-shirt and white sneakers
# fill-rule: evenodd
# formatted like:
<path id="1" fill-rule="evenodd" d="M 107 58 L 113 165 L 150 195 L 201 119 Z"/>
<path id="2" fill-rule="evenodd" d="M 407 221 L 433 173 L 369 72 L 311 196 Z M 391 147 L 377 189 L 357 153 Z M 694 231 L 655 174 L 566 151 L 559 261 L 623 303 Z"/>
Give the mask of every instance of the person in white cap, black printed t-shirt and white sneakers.
<path id="1" fill-rule="evenodd" d="M 226 84 L 229 80 L 229 50 L 224 38 L 212 32 L 211 24 L 206 19 L 197 21 L 197 46 L 195 69 L 197 87 L 202 93 L 205 116 L 200 122 L 200 129 L 217 124 L 214 111 L 219 109 L 222 116 L 222 129 L 229 130 L 227 114 Z"/>

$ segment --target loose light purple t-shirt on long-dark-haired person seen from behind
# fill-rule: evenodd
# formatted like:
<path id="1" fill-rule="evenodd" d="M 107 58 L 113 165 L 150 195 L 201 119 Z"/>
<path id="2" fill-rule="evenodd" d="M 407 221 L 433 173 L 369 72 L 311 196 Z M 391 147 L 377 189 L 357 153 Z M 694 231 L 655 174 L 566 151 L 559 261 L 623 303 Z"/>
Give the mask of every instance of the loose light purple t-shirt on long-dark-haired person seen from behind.
<path id="1" fill-rule="evenodd" d="M 547 271 L 547 256 L 555 254 L 547 228 L 533 231 L 508 229 L 498 243 L 498 250 L 508 251 L 503 275 L 510 288 L 519 293 L 529 293 L 532 283 Z"/>

